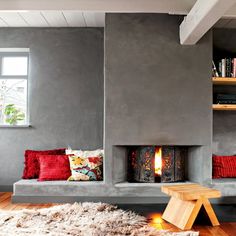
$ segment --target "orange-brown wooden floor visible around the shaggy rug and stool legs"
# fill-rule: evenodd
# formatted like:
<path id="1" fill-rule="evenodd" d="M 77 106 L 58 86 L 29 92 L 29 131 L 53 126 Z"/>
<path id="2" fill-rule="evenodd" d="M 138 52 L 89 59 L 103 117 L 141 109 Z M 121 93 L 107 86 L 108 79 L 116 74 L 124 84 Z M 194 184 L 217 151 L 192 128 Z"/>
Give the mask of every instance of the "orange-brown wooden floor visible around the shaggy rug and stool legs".
<path id="1" fill-rule="evenodd" d="M 12 193 L 0 193 L 0 210 L 20 210 L 20 209 L 33 209 L 33 208 L 45 208 L 56 204 L 12 204 Z M 158 229 L 170 230 L 180 232 L 175 226 L 165 222 L 161 219 L 161 213 L 152 213 L 146 215 L 150 225 Z M 236 236 L 236 222 L 221 223 L 220 226 L 211 227 L 205 225 L 194 225 L 193 230 L 199 231 L 200 236 Z"/>

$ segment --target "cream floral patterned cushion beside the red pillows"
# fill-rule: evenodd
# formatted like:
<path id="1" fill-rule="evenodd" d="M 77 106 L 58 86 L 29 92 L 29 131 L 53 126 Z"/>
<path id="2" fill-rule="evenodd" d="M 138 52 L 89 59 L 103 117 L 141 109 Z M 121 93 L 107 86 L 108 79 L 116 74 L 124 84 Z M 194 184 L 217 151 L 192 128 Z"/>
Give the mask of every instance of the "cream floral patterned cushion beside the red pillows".
<path id="1" fill-rule="evenodd" d="M 71 176 L 68 181 L 102 180 L 102 156 L 80 157 L 69 156 Z"/>

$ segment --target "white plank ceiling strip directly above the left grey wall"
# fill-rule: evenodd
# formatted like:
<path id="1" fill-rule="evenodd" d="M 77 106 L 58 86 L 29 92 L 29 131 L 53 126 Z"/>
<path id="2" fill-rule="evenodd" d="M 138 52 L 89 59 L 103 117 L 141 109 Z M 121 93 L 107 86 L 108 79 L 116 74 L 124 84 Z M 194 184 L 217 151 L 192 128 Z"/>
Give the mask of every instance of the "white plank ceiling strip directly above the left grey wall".
<path id="1" fill-rule="evenodd" d="M 104 27 L 104 12 L 16 11 L 0 12 L 0 27 Z"/>

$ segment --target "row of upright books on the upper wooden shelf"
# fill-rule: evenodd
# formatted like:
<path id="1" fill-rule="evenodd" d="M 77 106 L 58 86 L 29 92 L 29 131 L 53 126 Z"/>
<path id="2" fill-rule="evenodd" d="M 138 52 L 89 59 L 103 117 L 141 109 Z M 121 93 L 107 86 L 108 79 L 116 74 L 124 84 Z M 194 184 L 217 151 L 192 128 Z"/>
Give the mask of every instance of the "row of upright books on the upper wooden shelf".
<path id="1" fill-rule="evenodd" d="M 222 58 L 212 61 L 212 76 L 236 78 L 236 58 Z"/>

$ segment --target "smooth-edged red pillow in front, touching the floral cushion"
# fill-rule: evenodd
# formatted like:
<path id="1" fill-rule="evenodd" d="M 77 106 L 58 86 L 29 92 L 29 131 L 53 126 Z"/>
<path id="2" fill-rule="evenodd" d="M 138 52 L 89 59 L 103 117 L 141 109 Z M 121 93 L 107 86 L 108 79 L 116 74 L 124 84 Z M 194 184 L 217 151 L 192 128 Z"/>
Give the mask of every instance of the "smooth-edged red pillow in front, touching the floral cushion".
<path id="1" fill-rule="evenodd" d="M 71 176 L 67 155 L 38 155 L 40 172 L 38 181 L 67 180 Z"/>

